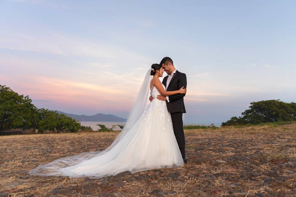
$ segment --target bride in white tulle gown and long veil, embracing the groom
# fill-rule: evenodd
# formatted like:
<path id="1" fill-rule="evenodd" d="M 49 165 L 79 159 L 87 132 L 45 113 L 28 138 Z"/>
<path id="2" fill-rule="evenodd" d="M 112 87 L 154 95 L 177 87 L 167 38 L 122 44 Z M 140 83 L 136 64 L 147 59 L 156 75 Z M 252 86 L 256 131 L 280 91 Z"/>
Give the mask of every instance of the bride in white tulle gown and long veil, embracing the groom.
<path id="1" fill-rule="evenodd" d="M 184 94 L 186 89 L 165 91 L 159 80 L 162 73 L 161 65 L 152 64 L 123 130 L 107 149 L 56 159 L 37 166 L 29 174 L 99 179 L 124 171 L 133 174 L 155 168 L 183 166 L 166 101 L 156 97 L 158 94 Z M 149 95 L 155 98 L 151 103 L 147 99 Z"/>

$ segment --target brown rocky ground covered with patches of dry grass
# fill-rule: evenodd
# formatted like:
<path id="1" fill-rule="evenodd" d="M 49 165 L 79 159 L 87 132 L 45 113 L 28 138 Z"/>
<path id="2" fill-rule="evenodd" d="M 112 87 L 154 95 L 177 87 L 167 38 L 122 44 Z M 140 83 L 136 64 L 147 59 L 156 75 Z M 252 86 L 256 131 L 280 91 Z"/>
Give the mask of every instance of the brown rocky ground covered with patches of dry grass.
<path id="1" fill-rule="evenodd" d="M 296 196 L 296 124 L 185 131 L 188 163 L 103 179 L 30 176 L 39 164 L 108 147 L 118 132 L 0 136 L 4 196 Z"/>

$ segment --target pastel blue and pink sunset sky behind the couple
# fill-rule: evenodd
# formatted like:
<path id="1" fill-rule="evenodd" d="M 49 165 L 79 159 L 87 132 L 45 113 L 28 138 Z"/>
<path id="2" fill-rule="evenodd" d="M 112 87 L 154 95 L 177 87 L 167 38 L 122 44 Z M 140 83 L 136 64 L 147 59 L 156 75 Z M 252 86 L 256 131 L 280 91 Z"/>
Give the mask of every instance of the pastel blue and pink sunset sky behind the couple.
<path id="1" fill-rule="evenodd" d="M 0 84 L 66 113 L 127 118 L 168 56 L 187 75 L 184 123 L 220 124 L 296 102 L 295 51 L 294 0 L 0 0 Z"/>

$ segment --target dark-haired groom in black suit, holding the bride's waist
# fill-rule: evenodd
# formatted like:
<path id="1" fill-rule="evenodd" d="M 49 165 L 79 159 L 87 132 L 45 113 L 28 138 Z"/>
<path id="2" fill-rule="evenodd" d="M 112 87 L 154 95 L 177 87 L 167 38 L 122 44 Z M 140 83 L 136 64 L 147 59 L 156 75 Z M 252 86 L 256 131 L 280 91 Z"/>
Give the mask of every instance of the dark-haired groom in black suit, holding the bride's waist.
<path id="1" fill-rule="evenodd" d="M 171 58 L 165 57 L 159 64 L 162 66 L 163 71 L 168 74 L 162 80 L 162 84 L 166 86 L 167 91 L 179 90 L 182 86 L 184 86 L 186 89 L 186 74 L 176 70 Z M 175 137 L 177 139 L 183 161 L 184 163 L 187 163 L 187 159 L 185 157 L 185 136 L 182 119 L 183 113 L 186 113 L 183 98 L 184 96 L 185 94 L 180 93 L 171 96 L 158 95 L 157 99 L 167 101 L 167 110 L 171 113 Z M 153 97 L 150 96 L 149 100 L 152 101 Z"/>

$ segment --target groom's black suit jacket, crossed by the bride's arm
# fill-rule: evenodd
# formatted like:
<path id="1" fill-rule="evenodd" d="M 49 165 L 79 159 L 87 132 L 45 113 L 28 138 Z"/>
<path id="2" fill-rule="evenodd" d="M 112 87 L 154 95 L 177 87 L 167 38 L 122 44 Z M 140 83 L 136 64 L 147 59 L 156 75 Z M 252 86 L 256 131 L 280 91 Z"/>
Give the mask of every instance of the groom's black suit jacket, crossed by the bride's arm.
<path id="1" fill-rule="evenodd" d="M 167 86 L 167 78 L 168 76 L 166 76 L 162 80 L 162 84 L 164 86 Z M 167 91 L 179 90 L 182 86 L 184 86 L 184 88 L 186 88 L 187 86 L 186 74 L 176 70 L 175 74 L 171 78 L 170 84 L 167 86 Z M 169 96 L 170 102 L 167 102 L 167 111 L 169 111 L 170 113 L 186 113 L 184 96 L 185 94 L 180 93 Z"/>

